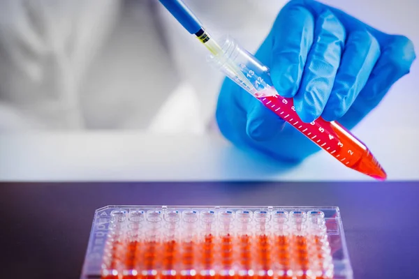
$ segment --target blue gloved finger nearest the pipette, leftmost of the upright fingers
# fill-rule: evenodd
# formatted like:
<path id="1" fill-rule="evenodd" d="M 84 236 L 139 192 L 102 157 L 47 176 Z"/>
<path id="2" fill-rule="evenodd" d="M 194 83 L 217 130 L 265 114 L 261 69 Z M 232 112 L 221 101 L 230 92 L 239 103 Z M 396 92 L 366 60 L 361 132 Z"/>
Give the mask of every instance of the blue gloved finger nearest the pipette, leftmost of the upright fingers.
<path id="1" fill-rule="evenodd" d="M 298 4 L 285 6 L 272 28 L 271 77 L 281 96 L 291 98 L 300 85 L 313 43 L 313 15 Z"/>

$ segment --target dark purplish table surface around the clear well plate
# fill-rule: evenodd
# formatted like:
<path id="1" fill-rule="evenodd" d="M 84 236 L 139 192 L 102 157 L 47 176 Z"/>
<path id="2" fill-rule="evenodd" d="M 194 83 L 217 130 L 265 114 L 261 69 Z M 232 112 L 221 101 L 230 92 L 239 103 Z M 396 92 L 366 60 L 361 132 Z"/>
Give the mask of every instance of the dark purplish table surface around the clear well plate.
<path id="1" fill-rule="evenodd" d="M 0 183 L 1 278 L 79 278 L 106 205 L 339 206 L 355 278 L 419 278 L 419 183 Z"/>

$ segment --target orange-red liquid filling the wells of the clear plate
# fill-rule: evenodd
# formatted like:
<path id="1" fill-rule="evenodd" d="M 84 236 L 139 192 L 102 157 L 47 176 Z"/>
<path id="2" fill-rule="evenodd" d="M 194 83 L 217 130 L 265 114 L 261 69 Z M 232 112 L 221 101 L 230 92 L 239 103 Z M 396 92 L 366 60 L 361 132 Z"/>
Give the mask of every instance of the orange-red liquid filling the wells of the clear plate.
<path id="1" fill-rule="evenodd" d="M 196 239 L 114 241 L 104 257 L 103 279 L 331 279 L 328 238 L 308 234 L 213 234 Z M 230 271 L 234 270 L 235 273 Z M 135 271 L 131 272 L 130 271 Z M 328 272 L 327 272 L 328 271 Z M 314 278 L 310 278 L 314 279 Z"/>

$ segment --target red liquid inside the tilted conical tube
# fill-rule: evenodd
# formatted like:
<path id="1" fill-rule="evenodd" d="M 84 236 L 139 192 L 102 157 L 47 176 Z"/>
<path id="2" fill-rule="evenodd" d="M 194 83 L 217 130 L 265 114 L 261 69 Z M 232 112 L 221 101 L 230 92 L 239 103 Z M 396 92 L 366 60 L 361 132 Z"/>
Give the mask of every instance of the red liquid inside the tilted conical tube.
<path id="1" fill-rule="evenodd" d="M 265 107 L 299 130 L 346 167 L 372 176 L 374 179 L 387 178 L 387 174 L 365 144 L 362 144 L 339 123 L 328 122 L 322 118 L 318 118 L 312 123 L 304 123 L 295 112 L 293 98 L 284 98 L 279 95 L 264 96 L 263 92 L 260 94 L 258 99 Z"/>

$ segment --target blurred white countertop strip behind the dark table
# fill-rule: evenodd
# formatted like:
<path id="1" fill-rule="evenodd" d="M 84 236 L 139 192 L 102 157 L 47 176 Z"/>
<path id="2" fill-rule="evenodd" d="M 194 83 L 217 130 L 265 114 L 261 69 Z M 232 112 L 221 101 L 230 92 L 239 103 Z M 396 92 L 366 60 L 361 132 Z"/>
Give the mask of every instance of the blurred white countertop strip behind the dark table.
<path id="1" fill-rule="evenodd" d="M 419 179 L 419 130 L 358 129 L 388 180 Z M 401 140 L 403 139 L 403 140 Z M 403 142 L 403 144 L 397 144 Z M 373 181 L 324 151 L 295 169 L 235 149 L 218 135 L 0 135 L 1 181 Z"/>

